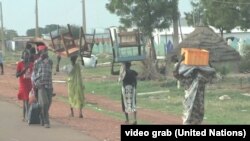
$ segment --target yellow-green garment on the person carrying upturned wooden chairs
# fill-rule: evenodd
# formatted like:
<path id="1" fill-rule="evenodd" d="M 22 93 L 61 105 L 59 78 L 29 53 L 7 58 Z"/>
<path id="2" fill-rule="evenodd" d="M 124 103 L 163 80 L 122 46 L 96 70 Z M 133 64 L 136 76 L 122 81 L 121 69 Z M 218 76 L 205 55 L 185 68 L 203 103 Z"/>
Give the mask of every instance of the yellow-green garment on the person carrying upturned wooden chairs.
<path id="1" fill-rule="evenodd" d="M 69 104 L 73 108 L 82 108 L 85 104 L 84 100 L 84 84 L 79 64 L 72 66 L 73 68 L 68 74 L 68 97 Z"/>

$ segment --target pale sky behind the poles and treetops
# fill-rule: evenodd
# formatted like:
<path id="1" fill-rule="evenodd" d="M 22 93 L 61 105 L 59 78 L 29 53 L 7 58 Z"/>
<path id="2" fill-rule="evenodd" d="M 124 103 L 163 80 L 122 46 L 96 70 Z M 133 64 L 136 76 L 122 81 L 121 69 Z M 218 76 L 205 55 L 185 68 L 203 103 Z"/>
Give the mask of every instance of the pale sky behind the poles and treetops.
<path id="1" fill-rule="evenodd" d="M 2 2 L 3 26 L 26 35 L 35 28 L 36 0 L 0 0 Z M 109 0 L 85 0 L 87 32 L 119 25 L 119 17 L 105 8 Z M 39 27 L 50 24 L 66 26 L 82 25 L 82 0 L 38 0 Z M 181 15 L 191 11 L 190 0 L 179 0 Z"/>

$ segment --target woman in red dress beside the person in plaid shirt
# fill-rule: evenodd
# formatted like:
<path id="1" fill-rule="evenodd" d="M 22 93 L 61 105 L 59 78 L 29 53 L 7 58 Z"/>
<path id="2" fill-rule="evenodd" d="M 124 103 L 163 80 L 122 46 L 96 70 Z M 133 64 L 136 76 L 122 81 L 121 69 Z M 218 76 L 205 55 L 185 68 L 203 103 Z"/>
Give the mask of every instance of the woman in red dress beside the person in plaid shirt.
<path id="1" fill-rule="evenodd" d="M 29 49 L 25 49 L 22 54 L 22 60 L 17 63 L 16 77 L 19 78 L 19 90 L 17 97 L 23 101 L 23 120 L 27 119 L 29 108 L 29 92 L 32 89 L 31 74 L 33 71 L 33 62 L 30 61 L 31 55 Z"/>

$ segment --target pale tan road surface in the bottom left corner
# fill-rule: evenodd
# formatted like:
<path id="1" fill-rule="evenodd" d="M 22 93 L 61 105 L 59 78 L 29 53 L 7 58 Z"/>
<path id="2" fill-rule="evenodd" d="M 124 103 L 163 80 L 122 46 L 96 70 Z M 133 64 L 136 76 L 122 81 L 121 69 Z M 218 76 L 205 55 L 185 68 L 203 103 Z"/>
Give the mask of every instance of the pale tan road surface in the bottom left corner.
<path id="1" fill-rule="evenodd" d="M 0 98 L 1 141 L 98 141 L 65 124 L 53 122 L 53 129 L 22 122 L 21 108 Z"/>

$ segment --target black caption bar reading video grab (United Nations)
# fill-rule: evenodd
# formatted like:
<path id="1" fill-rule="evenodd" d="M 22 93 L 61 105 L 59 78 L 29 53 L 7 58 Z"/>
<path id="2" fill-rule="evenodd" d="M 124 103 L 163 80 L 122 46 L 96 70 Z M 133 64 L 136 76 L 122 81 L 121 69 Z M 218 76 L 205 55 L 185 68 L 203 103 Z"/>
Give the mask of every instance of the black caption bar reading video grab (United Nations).
<path id="1" fill-rule="evenodd" d="M 121 125 L 121 141 L 250 139 L 250 125 Z"/>

